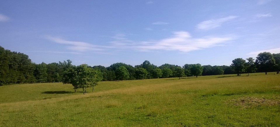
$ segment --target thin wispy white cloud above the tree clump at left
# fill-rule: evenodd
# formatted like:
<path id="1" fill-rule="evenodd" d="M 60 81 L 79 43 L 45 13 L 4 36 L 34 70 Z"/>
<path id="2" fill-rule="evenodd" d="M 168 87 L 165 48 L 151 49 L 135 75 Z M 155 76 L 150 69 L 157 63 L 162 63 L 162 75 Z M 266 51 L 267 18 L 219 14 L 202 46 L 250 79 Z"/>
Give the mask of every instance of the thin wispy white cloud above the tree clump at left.
<path id="1" fill-rule="evenodd" d="M 67 49 L 74 51 L 100 51 L 104 48 L 104 46 L 97 46 L 87 42 L 67 41 L 59 37 L 46 36 L 45 38 L 55 43 L 67 44 L 69 45 Z"/>

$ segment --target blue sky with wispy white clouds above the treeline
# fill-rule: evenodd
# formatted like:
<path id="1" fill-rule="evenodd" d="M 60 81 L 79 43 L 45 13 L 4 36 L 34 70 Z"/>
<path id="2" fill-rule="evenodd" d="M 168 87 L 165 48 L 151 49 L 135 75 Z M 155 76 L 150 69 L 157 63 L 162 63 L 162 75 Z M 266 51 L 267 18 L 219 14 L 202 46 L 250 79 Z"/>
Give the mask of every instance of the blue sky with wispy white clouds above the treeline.
<path id="1" fill-rule="evenodd" d="M 279 0 L 0 1 L 0 46 L 39 64 L 230 65 L 280 53 Z"/>

